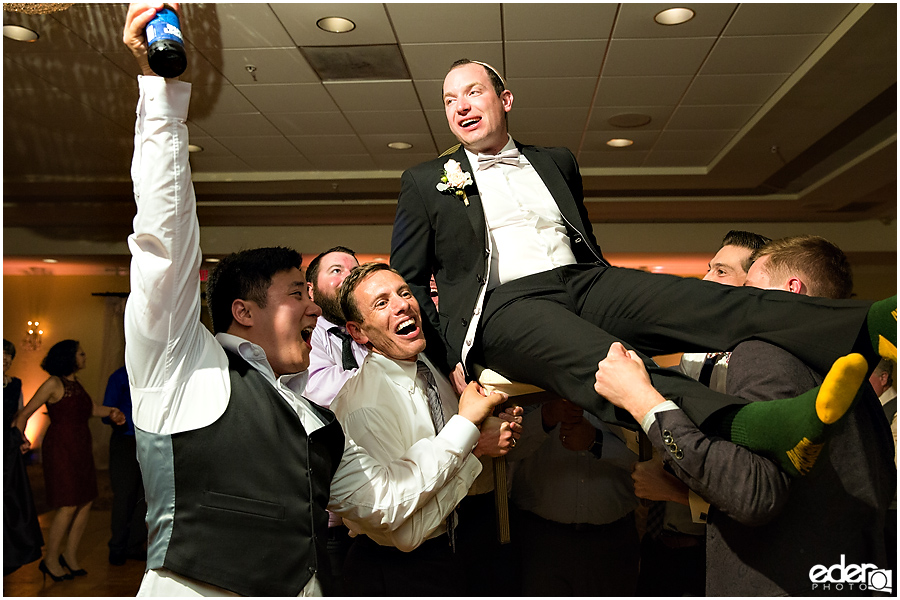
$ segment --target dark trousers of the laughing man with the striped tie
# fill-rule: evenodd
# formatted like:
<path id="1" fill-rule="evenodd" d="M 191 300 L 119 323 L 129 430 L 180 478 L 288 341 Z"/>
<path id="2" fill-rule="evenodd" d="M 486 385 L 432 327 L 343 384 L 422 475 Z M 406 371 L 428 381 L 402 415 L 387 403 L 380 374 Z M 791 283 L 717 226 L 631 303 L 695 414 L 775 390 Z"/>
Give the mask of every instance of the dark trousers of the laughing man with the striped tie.
<path id="1" fill-rule="evenodd" d="M 490 569 L 491 565 L 484 565 Z M 464 596 L 459 555 L 441 535 L 412 552 L 379 546 L 357 536 L 344 561 L 344 593 L 348 596 Z"/>

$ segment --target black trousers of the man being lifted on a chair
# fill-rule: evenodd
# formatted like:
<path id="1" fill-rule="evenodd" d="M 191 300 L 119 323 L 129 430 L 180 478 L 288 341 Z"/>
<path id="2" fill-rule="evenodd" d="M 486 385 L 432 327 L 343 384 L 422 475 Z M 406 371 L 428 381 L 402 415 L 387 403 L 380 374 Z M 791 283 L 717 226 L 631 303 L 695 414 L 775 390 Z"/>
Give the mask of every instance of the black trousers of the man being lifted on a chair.
<path id="1" fill-rule="evenodd" d="M 597 363 L 620 341 L 644 360 L 653 386 L 697 424 L 744 404 L 649 358 L 727 351 L 761 339 L 825 373 L 839 357 L 877 357 L 864 332 L 870 302 L 725 286 L 617 267 L 570 265 L 523 277 L 485 300 L 476 362 L 513 380 L 553 390 L 610 423 L 629 415 L 594 391 Z"/>

